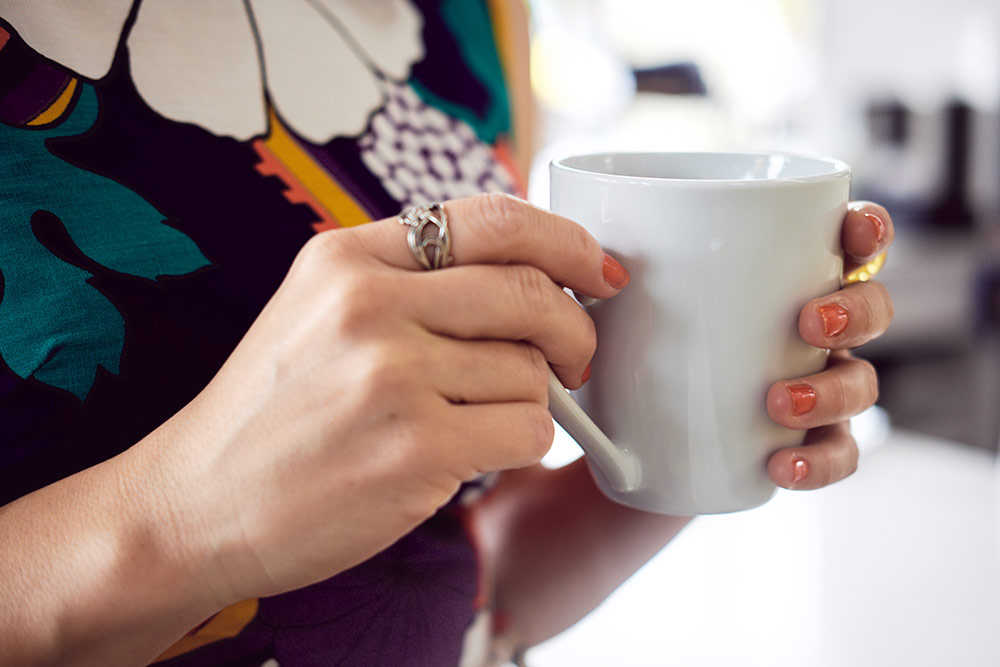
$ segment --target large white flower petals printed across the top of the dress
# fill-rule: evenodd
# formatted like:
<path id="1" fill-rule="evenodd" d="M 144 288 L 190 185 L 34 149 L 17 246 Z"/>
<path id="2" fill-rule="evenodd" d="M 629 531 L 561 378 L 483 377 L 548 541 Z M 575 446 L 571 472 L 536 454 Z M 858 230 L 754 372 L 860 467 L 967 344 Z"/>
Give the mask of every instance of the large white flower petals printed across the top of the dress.
<path id="1" fill-rule="evenodd" d="M 408 0 L 0 0 L 33 49 L 100 79 L 126 39 L 132 78 L 158 113 L 221 136 L 267 133 L 268 99 L 300 136 L 356 136 L 423 57 Z M 197 17 L 197 20 L 192 20 Z"/>

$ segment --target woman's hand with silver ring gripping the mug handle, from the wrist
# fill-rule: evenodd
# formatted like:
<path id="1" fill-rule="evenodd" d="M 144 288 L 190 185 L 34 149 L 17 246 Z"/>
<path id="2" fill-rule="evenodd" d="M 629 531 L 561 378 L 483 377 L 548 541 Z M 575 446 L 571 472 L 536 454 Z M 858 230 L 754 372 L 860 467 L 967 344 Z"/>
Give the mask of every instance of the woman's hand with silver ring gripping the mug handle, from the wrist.
<path id="1" fill-rule="evenodd" d="M 446 207 L 447 269 L 420 270 L 396 218 L 317 235 L 208 387 L 126 454 L 216 604 L 332 576 L 548 450 L 548 368 L 575 388 L 595 347 L 562 287 L 609 298 L 628 275 L 513 197 Z"/>

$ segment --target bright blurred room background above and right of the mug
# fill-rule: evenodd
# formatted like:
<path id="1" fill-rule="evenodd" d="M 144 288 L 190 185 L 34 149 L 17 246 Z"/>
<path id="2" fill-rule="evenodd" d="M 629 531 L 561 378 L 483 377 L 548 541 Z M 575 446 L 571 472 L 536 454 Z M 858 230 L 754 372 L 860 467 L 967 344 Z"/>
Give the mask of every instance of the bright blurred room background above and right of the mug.
<path id="1" fill-rule="evenodd" d="M 847 161 L 891 211 L 896 318 L 865 346 L 894 425 L 1000 439 L 1000 2 L 532 0 L 546 164 L 590 150 Z"/>

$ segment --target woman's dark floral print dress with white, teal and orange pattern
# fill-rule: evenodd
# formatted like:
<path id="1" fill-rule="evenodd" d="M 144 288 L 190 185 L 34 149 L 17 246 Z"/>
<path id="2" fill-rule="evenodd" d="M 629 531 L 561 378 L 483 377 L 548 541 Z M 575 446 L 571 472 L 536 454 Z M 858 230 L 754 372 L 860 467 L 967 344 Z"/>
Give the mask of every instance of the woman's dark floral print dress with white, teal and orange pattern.
<path id="1" fill-rule="evenodd" d="M 518 192 L 503 7 L 0 0 L 0 505 L 190 401 L 313 234 Z M 477 492 L 157 662 L 480 664 Z"/>

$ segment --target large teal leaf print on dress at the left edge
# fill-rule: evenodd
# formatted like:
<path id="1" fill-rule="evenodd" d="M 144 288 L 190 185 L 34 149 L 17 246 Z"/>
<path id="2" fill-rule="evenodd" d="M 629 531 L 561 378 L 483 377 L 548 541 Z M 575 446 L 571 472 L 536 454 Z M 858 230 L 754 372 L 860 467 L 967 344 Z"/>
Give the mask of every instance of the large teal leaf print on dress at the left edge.
<path id="1" fill-rule="evenodd" d="M 87 132 L 97 119 L 94 87 L 83 85 L 71 115 L 44 130 L 0 124 L 0 357 L 14 373 L 83 400 L 98 367 L 117 374 L 125 342 L 118 309 L 89 272 L 53 255 L 35 237 L 39 211 L 55 215 L 83 254 L 147 280 L 208 265 L 198 246 L 126 186 L 53 155 L 46 140 Z"/>

